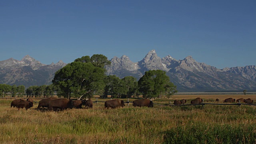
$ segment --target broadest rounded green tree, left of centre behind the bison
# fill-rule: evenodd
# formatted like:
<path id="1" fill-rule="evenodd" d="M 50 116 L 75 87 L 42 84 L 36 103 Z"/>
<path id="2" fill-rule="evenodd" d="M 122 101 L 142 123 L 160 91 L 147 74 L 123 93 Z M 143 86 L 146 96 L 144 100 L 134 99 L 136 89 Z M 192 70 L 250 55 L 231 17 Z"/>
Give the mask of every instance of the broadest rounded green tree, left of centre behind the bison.
<path id="1" fill-rule="evenodd" d="M 102 94 L 104 77 L 103 68 L 95 67 L 92 63 L 75 61 L 58 70 L 52 82 L 59 86 L 58 94 L 70 98 L 72 93 L 74 97 L 82 98 Z"/>

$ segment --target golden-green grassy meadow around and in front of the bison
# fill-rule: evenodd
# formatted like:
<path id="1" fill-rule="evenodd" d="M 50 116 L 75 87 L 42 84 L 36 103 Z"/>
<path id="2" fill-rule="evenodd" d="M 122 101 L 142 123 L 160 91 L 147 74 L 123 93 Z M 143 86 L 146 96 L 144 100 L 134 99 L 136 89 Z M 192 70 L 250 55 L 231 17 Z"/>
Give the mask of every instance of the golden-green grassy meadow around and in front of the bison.
<path id="1" fill-rule="evenodd" d="M 255 94 L 174 95 L 154 103 L 186 98 L 190 104 L 196 97 L 208 102 L 229 97 L 256 101 Z M 1 144 L 256 144 L 256 106 L 134 108 L 130 103 L 105 110 L 104 102 L 98 102 L 89 109 L 52 112 L 36 110 L 38 104 L 29 110 L 10 108 L 11 101 L 0 100 Z"/>

